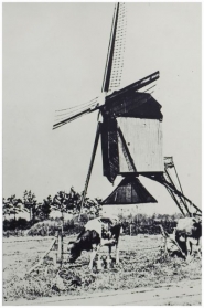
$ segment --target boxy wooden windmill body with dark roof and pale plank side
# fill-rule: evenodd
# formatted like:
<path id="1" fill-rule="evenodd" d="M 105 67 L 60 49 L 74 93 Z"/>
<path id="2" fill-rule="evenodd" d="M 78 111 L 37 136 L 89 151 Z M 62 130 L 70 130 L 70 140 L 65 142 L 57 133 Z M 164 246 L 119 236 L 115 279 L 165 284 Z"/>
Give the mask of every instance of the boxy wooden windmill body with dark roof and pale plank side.
<path id="1" fill-rule="evenodd" d="M 128 91 L 107 98 L 101 148 L 104 176 L 110 182 L 118 174 L 163 172 L 160 108 L 148 93 Z"/>

